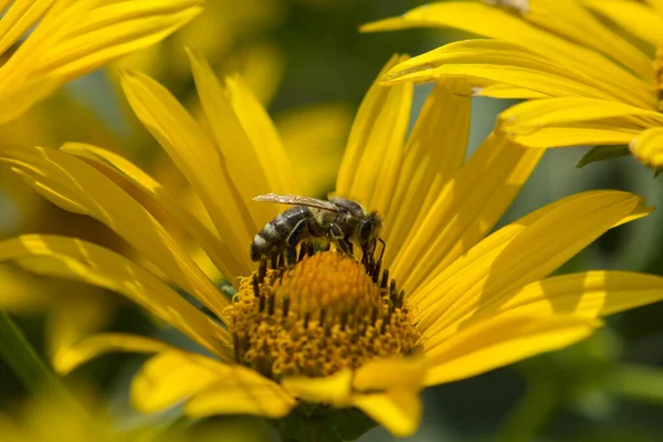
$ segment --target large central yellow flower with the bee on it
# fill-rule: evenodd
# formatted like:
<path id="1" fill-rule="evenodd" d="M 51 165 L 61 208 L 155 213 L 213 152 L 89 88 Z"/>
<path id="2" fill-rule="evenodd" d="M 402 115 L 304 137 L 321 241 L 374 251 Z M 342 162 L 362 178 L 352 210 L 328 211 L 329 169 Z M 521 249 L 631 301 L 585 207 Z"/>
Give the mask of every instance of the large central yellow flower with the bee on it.
<path id="1" fill-rule="evenodd" d="M 407 435 L 419 423 L 422 388 L 570 345 L 600 326 L 600 316 L 663 297 L 663 278 L 653 275 L 590 271 L 548 277 L 607 230 L 648 214 L 634 194 L 575 194 L 488 234 L 544 149 L 492 135 L 464 161 L 469 87 L 451 80 L 431 93 L 407 140 L 411 84 L 373 84 L 356 116 L 336 194 L 383 218 L 387 245 L 378 263 L 313 253 L 306 245 L 296 263 L 257 266 L 249 245 L 283 208 L 252 198 L 301 194 L 301 185 L 242 80 L 219 82 L 203 59 L 191 51 L 189 56 L 209 135 L 154 80 L 124 72 L 122 84 L 138 118 L 194 189 L 203 218 L 102 148 L 0 149 L 0 159 L 44 197 L 112 227 L 146 256 L 149 270 L 56 235 L 0 242 L 0 260 L 118 292 L 207 350 L 104 333 L 56 355 L 59 372 L 108 351 L 156 352 L 133 383 L 140 411 L 185 400 L 191 417 L 251 413 L 286 422 L 278 427 L 285 431 L 306 418 L 333 425 L 334 413 L 350 419 L 358 409 Z M 392 59 L 380 75 L 403 61 Z M 232 299 L 186 253 L 178 230 L 165 229 L 123 190 L 129 186 L 200 243 L 234 284 Z"/>

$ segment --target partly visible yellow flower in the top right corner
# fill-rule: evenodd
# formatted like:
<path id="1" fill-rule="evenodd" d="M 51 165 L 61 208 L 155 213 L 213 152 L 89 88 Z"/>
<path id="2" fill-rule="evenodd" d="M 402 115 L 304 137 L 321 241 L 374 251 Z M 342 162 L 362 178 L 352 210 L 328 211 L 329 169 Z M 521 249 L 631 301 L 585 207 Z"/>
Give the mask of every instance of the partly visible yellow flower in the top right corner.
<path id="1" fill-rule="evenodd" d="M 640 161 L 663 166 L 663 2 L 485 3 L 492 4 L 431 3 L 365 25 L 364 31 L 453 27 L 495 39 L 452 43 L 413 57 L 387 74 L 389 83 L 467 77 L 477 96 L 533 99 L 499 117 L 499 128 L 519 144 L 630 144 Z"/>

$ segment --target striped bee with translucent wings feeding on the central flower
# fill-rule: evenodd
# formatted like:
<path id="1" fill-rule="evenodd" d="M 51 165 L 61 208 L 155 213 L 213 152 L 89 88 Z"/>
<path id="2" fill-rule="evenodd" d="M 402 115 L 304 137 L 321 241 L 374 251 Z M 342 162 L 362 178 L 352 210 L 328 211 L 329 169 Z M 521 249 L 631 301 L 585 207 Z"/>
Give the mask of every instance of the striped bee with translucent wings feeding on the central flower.
<path id="1" fill-rule="evenodd" d="M 372 254 L 382 228 L 382 218 L 376 211 L 367 212 L 361 204 L 339 197 L 328 201 L 296 194 L 267 193 L 254 201 L 294 204 L 255 235 L 251 243 L 251 260 L 272 257 L 294 252 L 301 241 L 324 239 L 336 244 L 343 253 L 352 253 L 355 240 L 364 254 Z"/>

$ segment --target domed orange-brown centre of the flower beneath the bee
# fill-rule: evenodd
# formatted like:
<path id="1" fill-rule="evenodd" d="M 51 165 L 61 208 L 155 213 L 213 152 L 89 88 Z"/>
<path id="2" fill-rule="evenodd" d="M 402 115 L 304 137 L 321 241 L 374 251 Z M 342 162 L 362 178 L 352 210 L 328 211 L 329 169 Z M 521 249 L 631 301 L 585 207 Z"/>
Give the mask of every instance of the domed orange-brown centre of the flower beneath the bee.
<path id="1" fill-rule="evenodd" d="M 309 250 L 276 269 L 263 262 L 242 280 L 225 314 L 238 361 L 275 380 L 407 355 L 419 338 L 387 270 L 330 251 Z"/>

